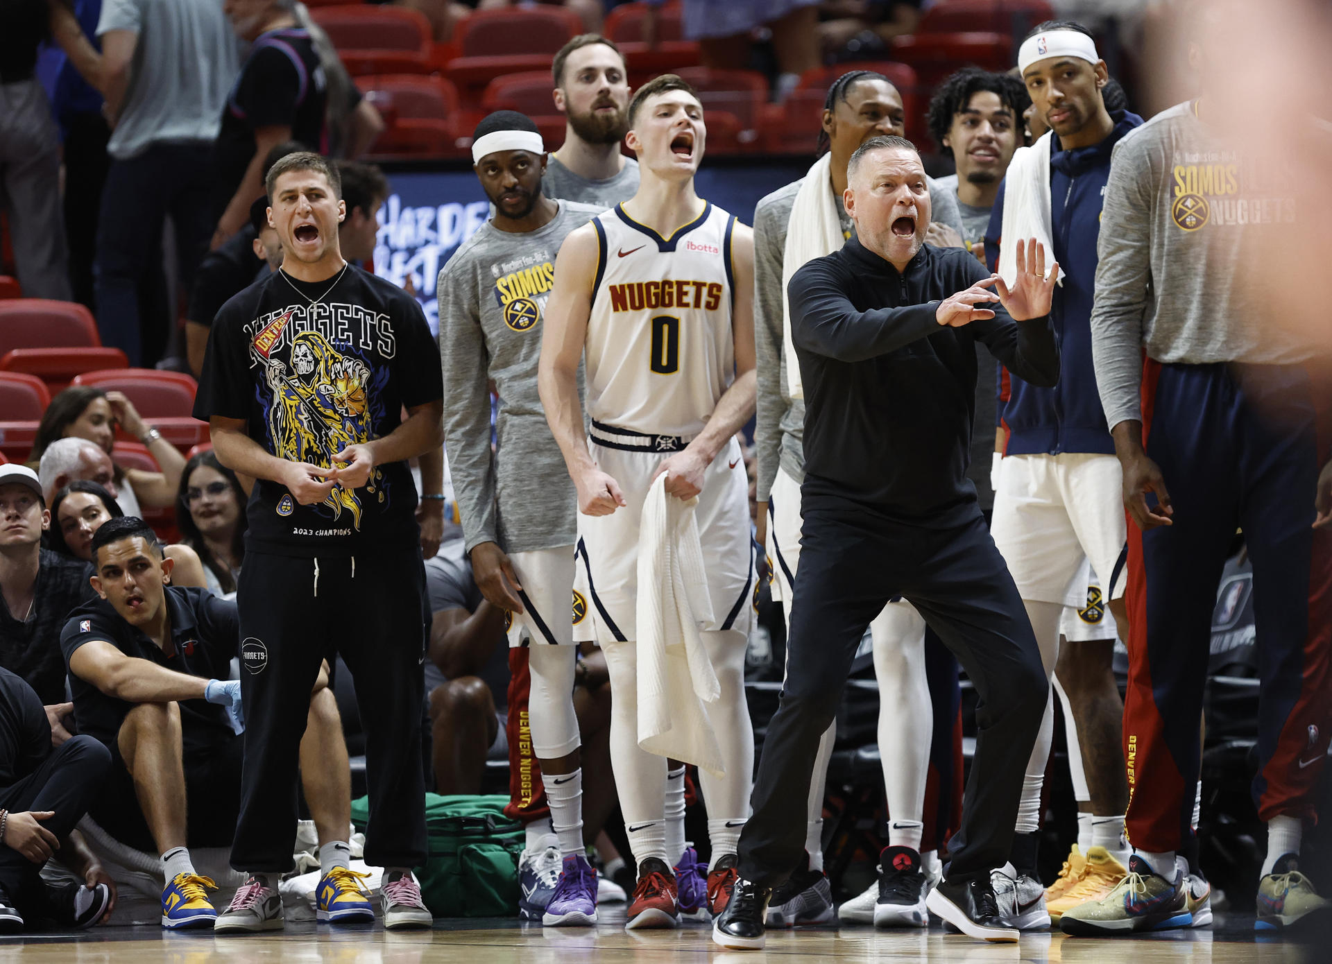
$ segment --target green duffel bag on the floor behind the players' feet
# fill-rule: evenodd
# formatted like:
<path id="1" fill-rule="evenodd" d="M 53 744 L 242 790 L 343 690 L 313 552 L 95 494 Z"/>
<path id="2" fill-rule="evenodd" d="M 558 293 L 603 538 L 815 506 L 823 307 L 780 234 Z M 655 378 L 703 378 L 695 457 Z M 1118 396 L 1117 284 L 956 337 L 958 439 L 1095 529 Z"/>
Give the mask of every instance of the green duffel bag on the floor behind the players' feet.
<path id="1" fill-rule="evenodd" d="M 507 796 L 425 795 L 430 857 L 416 868 L 421 896 L 436 917 L 518 916 L 522 824 L 503 815 Z M 352 802 L 352 823 L 365 831 L 368 798 Z"/>

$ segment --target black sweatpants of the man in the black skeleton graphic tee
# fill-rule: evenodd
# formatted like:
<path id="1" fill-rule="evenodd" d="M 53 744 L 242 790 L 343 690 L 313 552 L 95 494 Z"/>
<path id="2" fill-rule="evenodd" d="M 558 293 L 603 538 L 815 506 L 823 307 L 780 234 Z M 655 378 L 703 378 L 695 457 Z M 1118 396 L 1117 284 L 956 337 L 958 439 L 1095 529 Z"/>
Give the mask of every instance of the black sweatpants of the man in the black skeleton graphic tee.
<path id="1" fill-rule="evenodd" d="M 237 586 L 245 763 L 232 867 L 292 867 L 300 742 L 320 660 L 341 654 L 365 726 L 365 860 L 426 860 L 421 702 L 425 567 L 416 542 L 352 558 L 246 553 Z"/>

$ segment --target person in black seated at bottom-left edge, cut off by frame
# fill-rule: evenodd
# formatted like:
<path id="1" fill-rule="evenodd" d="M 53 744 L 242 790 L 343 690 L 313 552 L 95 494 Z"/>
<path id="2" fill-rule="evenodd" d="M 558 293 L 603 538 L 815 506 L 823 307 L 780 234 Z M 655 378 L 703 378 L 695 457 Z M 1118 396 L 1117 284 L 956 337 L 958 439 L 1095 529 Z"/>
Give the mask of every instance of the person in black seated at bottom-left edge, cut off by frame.
<path id="1" fill-rule="evenodd" d="M 0 933 L 39 919 L 83 929 L 115 907 L 116 884 L 75 830 L 109 767 L 111 754 L 91 736 L 52 748 L 37 694 L 0 668 Z M 57 851 L 85 883 L 43 881 Z"/>

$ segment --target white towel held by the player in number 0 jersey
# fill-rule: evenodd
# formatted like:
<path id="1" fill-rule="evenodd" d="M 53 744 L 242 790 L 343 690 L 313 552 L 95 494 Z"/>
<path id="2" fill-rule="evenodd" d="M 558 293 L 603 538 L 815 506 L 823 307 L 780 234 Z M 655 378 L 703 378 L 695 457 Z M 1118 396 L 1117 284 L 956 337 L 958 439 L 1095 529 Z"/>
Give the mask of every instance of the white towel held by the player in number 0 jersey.
<path id="1" fill-rule="evenodd" d="M 638 535 L 638 746 L 722 776 L 722 750 L 703 703 L 722 695 L 699 627 L 713 622 L 694 510 L 666 494 L 666 474 L 643 502 Z"/>

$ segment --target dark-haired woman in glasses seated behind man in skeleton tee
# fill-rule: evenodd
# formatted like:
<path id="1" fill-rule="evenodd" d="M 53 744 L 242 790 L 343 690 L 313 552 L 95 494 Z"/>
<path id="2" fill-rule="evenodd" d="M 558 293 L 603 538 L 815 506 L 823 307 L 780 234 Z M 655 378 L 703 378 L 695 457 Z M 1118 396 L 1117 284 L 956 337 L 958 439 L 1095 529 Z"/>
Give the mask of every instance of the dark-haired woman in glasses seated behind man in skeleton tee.
<path id="1" fill-rule="evenodd" d="M 245 558 L 249 499 L 236 473 L 217 461 L 212 450 L 185 463 L 176 501 L 176 525 L 181 542 L 204 563 L 208 589 L 225 595 L 236 591 L 236 578 Z"/>

